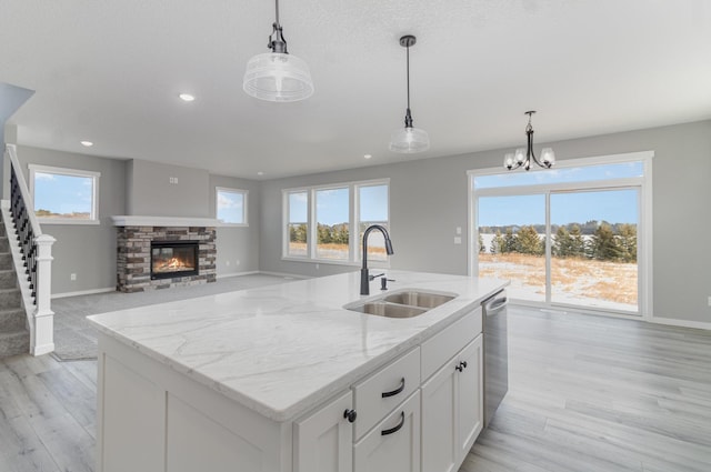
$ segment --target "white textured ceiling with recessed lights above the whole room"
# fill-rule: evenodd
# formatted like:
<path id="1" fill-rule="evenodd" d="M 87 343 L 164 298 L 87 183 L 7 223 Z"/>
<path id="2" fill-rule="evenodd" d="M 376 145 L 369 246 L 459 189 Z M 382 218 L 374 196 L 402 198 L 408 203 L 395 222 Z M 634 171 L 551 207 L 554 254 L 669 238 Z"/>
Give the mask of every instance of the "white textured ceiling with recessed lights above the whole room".
<path id="1" fill-rule="evenodd" d="M 36 90 L 9 120 L 20 144 L 227 175 L 515 147 L 529 109 L 537 142 L 711 118 L 709 0 L 281 0 L 289 52 L 316 86 L 294 103 L 242 91 L 272 1 L 0 0 L 0 82 Z M 422 154 L 388 150 L 404 118 L 404 33 L 418 37 Z"/>

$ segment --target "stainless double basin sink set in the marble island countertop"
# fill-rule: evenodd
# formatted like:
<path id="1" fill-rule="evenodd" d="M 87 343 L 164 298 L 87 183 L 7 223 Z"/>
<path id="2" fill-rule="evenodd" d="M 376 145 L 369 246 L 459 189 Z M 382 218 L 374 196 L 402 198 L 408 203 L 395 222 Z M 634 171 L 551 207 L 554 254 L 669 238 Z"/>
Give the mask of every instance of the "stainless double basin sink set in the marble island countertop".
<path id="1" fill-rule="evenodd" d="M 401 290 L 344 305 L 346 310 L 385 318 L 413 318 L 457 298 L 454 293 Z"/>

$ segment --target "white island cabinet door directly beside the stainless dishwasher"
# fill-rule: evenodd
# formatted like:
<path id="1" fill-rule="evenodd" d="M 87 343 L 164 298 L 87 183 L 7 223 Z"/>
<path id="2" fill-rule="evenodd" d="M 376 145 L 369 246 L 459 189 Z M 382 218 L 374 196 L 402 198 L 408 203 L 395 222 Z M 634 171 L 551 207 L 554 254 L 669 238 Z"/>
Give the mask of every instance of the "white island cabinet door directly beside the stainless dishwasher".
<path id="1" fill-rule="evenodd" d="M 478 335 L 457 356 L 458 463 L 464 460 L 483 426 L 483 355 L 482 335 Z M 467 365 L 465 368 L 463 365 Z"/>

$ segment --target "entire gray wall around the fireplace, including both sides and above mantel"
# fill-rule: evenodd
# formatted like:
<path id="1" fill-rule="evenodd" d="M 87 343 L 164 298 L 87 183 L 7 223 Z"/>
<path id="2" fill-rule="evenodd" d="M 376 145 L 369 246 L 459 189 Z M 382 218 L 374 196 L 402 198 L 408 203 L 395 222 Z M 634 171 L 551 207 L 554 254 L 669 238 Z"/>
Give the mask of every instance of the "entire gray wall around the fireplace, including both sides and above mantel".
<path id="1" fill-rule="evenodd" d="M 250 222 L 249 227 L 218 228 L 218 277 L 259 270 L 260 184 L 257 181 L 210 175 L 201 169 L 30 147 L 19 147 L 18 158 L 26 179 L 29 163 L 101 172 L 101 224 L 42 224 L 42 231 L 57 239 L 52 248 L 52 294 L 116 287 L 116 227 L 110 217 L 214 218 L 216 187 L 249 191 Z M 178 184 L 171 184 L 170 177 L 177 177 Z M 72 273 L 77 274 L 76 281 L 70 280 Z"/>

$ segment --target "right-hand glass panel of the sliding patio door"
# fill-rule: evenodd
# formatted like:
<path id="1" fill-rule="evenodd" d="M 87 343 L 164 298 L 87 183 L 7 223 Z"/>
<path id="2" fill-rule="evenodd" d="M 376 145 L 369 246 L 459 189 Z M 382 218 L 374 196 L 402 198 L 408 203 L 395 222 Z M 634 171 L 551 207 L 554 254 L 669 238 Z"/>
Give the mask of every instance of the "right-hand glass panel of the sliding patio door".
<path id="1" fill-rule="evenodd" d="M 550 301 L 638 311 L 639 189 L 550 195 Z"/>

